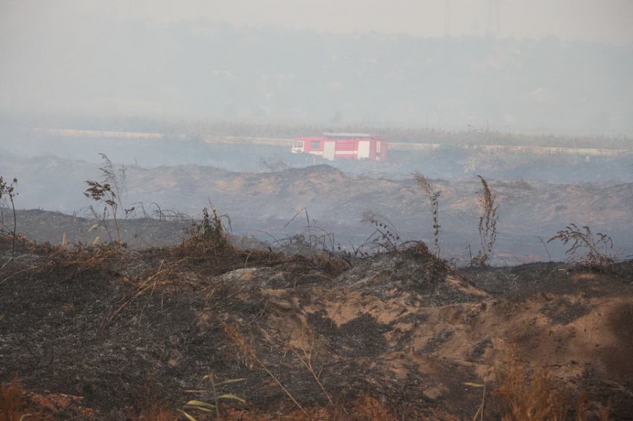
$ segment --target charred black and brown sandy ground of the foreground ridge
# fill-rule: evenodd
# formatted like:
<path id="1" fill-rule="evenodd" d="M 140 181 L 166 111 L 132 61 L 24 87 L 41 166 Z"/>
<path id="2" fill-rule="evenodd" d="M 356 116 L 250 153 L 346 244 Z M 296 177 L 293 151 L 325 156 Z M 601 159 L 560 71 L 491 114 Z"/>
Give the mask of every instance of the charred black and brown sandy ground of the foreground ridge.
<path id="1" fill-rule="evenodd" d="M 368 258 L 181 241 L 142 250 L 0 239 L 0 381 L 50 419 L 500 419 L 504 364 L 546 370 L 589 418 L 633 420 L 633 264 L 452 269 L 422 243 Z M 528 380 L 526 379 L 526 382 Z M 373 411 L 373 412 L 372 412 Z M 380 412 L 382 411 L 382 412 Z M 202 420 L 204 415 L 188 410 Z M 76 418 L 74 418 L 76 417 Z M 209 418 L 210 419 L 210 418 Z"/>

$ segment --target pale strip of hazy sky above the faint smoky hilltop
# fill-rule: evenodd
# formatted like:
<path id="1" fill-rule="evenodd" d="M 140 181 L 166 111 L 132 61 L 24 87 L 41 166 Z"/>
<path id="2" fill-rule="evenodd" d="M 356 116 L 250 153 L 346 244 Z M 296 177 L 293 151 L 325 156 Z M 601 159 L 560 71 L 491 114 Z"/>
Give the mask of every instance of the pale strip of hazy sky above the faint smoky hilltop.
<path id="1" fill-rule="evenodd" d="M 98 15 L 148 22 L 220 20 L 325 32 L 403 32 L 633 43 L 632 0 L 0 0 L 0 25 Z M 449 11 L 447 14 L 447 10 Z M 448 19 L 447 19 L 448 18 Z"/>

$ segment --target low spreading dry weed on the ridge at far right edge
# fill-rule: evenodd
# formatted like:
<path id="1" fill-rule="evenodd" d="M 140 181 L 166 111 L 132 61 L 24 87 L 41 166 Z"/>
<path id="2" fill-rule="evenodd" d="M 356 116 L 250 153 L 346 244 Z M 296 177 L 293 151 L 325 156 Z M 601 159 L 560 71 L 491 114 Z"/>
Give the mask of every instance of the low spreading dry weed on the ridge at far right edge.
<path id="1" fill-rule="evenodd" d="M 575 224 L 570 224 L 557 232 L 547 242 L 554 240 L 563 241 L 563 244 L 571 242 L 572 244 L 565 254 L 570 256 L 570 259 L 577 258 L 580 265 L 585 265 L 589 269 L 611 271 L 613 257 L 611 257 L 610 250 L 613 248 L 613 240 L 610 236 L 601 232 L 597 232 L 594 236 L 589 227 L 578 227 Z M 576 255 L 581 248 L 587 248 L 587 253 Z"/>

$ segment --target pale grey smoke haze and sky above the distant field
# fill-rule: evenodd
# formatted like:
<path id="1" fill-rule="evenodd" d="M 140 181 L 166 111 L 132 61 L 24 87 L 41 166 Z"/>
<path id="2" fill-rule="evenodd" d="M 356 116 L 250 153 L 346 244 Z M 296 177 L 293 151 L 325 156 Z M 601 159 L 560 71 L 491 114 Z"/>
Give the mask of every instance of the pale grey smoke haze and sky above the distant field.
<path id="1" fill-rule="evenodd" d="M 0 112 L 633 132 L 629 1 L 2 1 Z"/>

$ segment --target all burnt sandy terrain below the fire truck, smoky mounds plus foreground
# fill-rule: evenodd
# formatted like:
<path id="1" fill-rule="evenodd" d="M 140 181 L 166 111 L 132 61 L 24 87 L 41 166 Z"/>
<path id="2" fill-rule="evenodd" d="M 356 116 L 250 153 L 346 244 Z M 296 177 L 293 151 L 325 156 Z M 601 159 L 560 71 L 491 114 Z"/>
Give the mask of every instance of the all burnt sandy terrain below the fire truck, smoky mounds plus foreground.
<path id="1" fill-rule="evenodd" d="M 191 145 L 212 165 L 235 156 Z M 180 159 L 137 152 L 148 150 Z M 221 400 L 226 420 L 633 420 L 628 157 L 459 153 L 380 167 L 129 166 L 126 248 L 83 195 L 98 163 L 2 154 L 24 236 L 11 258 L 12 213 L 0 208 L 0 382 L 26 391 L 8 419 L 203 420 L 185 404 L 230 393 L 245 402 Z M 412 171 L 448 174 L 433 178 L 445 260 L 421 242 L 433 244 L 433 221 Z M 502 267 L 457 269 L 479 246 L 475 171 L 499 205 Z M 209 202 L 231 234 L 191 234 Z M 366 211 L 404 244 L 354 256 L 374 232 Z M 604 251 L 620 260 L 551 262 L 569 245 L 546 241 L 571 222 L 613 236 Z M 242 380 L 213 393 L 205 375 Z M 522 405 L 549 413 L 528 418 Z"/>

